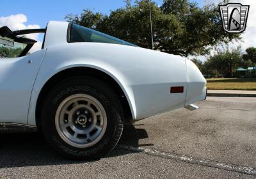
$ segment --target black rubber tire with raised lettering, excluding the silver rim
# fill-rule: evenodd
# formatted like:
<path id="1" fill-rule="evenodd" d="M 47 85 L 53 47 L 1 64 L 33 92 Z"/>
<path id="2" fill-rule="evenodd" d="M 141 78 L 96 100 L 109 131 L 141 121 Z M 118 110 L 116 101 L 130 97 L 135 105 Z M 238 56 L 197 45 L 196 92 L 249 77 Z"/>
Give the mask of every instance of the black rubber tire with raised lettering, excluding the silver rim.
<path id="1" fill-rule="evenodd" d="M 77 148 L 66 143 L 58 134 L 55 115 L 65 98 L 76 94 L 86 94 L 96 98 L 104 107 L 107 116 L 106 131 L 92 146 Z M 93 77 L 72 77 L 54 86 L 42 106 L 42 133 L 51 146 L 69 159 L 99 159 L 111 152 L 118 143 L 123 130 L 123 113 L 120 100 L 107 84 Z"/>

